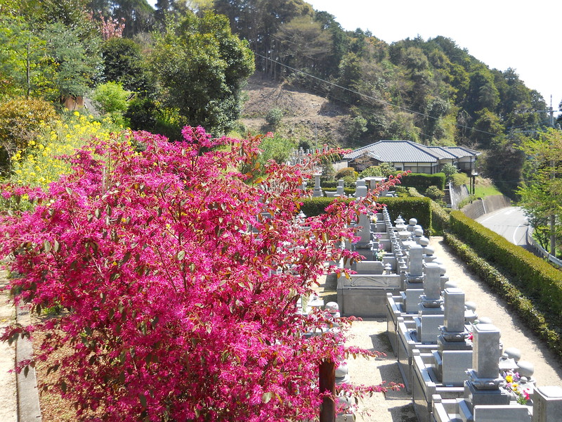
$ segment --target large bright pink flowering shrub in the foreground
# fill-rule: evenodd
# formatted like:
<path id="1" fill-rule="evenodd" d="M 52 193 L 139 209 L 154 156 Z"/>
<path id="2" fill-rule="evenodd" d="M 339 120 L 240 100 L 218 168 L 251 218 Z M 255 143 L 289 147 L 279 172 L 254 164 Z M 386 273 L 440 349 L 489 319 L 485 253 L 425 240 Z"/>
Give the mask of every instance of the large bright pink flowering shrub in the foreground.
<path id="1" fill-rule="evenodd" d="M 361 351 L 344 347 L 344 320 L 305 336 L 329 322 L 298 314 L 296 300 L 330 257 L 353 257 L 337 245 L 372 200 L 334 203 L 305 229 L 294 216 L 310 169 L 272 163 L 251 184 L 237 171 L 259 138 L 191 127 L 183 142 L 132 136 L 86 146 L 46 193 L 3 189 L 4 200 L 37 201 L 0 216 L 1 255 L 21 274 L 15 300 L 65 309 L 4 340 L 46 331 L 39 360 L 70 346 L 51 370 L 78 418 L 89 409 L 99 421 L 314 418 L 319 364 Z"/>

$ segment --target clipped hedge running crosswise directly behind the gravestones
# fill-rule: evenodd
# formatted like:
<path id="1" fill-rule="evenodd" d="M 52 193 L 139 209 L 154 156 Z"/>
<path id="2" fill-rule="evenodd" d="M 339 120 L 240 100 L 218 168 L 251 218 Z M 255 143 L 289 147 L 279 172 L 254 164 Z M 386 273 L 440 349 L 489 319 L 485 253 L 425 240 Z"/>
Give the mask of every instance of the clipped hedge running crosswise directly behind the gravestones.
<path id="1" fill-rule="evenodd" d="M 334 198 L 307 198 L 303 200 L 302 212 L 308 217 L 320 215 L 325 212 L 325 208 L 332 203 Z M 346 198 L 346 201 L 353 198 Z M 431 231 L 431 200 L 429 198 L 379 198 L 379 203 L 384 203 L 395 220 L 401 215 L 406 222 L 410 218 L 417 219 L 426 231 Z"/>

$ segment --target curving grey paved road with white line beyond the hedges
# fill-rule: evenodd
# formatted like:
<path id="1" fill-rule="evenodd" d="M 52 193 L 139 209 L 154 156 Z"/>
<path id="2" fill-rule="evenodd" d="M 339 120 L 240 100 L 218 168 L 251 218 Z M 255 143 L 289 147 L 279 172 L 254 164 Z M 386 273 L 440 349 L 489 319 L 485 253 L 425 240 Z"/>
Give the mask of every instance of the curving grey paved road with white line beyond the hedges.
<path id="1" fill-rule="evenodd" d="M 477 222 L 504 236 L 515 245 L 525 247 L 529 223 L 521 207 L 505 207 L 476 219 Z"/>

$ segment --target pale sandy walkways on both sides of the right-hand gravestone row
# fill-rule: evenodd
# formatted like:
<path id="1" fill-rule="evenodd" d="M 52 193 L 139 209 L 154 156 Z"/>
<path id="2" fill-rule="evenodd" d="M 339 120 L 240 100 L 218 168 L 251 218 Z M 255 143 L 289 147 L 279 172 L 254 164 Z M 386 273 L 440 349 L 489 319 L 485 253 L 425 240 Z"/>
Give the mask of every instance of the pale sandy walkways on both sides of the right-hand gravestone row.
<path id="1" fill-rule="evenodd" d="M 450 252 L 443 238 L 434 236 L 430 245 L 435 249 L 435 256 L 445 264 L 450 281 L 464 290 L 465 300 L 476 303 L 476 314 L 488 316 L 492 324 L 502 333 L 504 347 L 516 347 L 521 350 L 521 359 L 535 366 L 534 378 L 538 386 L 562 386 L 562 363 L 556 355 L 547 349 L 542 340 L 524 327 L 518 316 L 509 312 L 507 304 L 477 276 L 464 267 L 464 264 Z M 323 291 L 321 295 L 327 300 L 335 300 L 335 291 Z M 398 364 L 386 337 L 386 319 L 363 319 L 353 323 L 353 336 L 348 344 L 369 350 L 385 352 L 386 357 L 378 359 L 348 359 L 350 382 L 355 384 L 375 385 L 381 381 L 402 382 Z M 405 390 L 376 394 L 360 402 L 362 414 L 357 415 L 358 422 L 417 422 L 410 395 Z"/>

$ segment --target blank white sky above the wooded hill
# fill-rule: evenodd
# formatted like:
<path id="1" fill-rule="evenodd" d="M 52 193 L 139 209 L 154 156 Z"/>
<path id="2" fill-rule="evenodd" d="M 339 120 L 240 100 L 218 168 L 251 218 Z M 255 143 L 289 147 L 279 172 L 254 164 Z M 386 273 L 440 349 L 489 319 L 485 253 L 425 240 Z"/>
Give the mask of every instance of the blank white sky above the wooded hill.
<path id="1" fill-rule="evenodd" d="M 490 68 L 514 68 L 547 107 L 562 101 L 562 1 L 306 0 L 344 30 L 370 30 L 388 43 L 442 35 Z"/>

